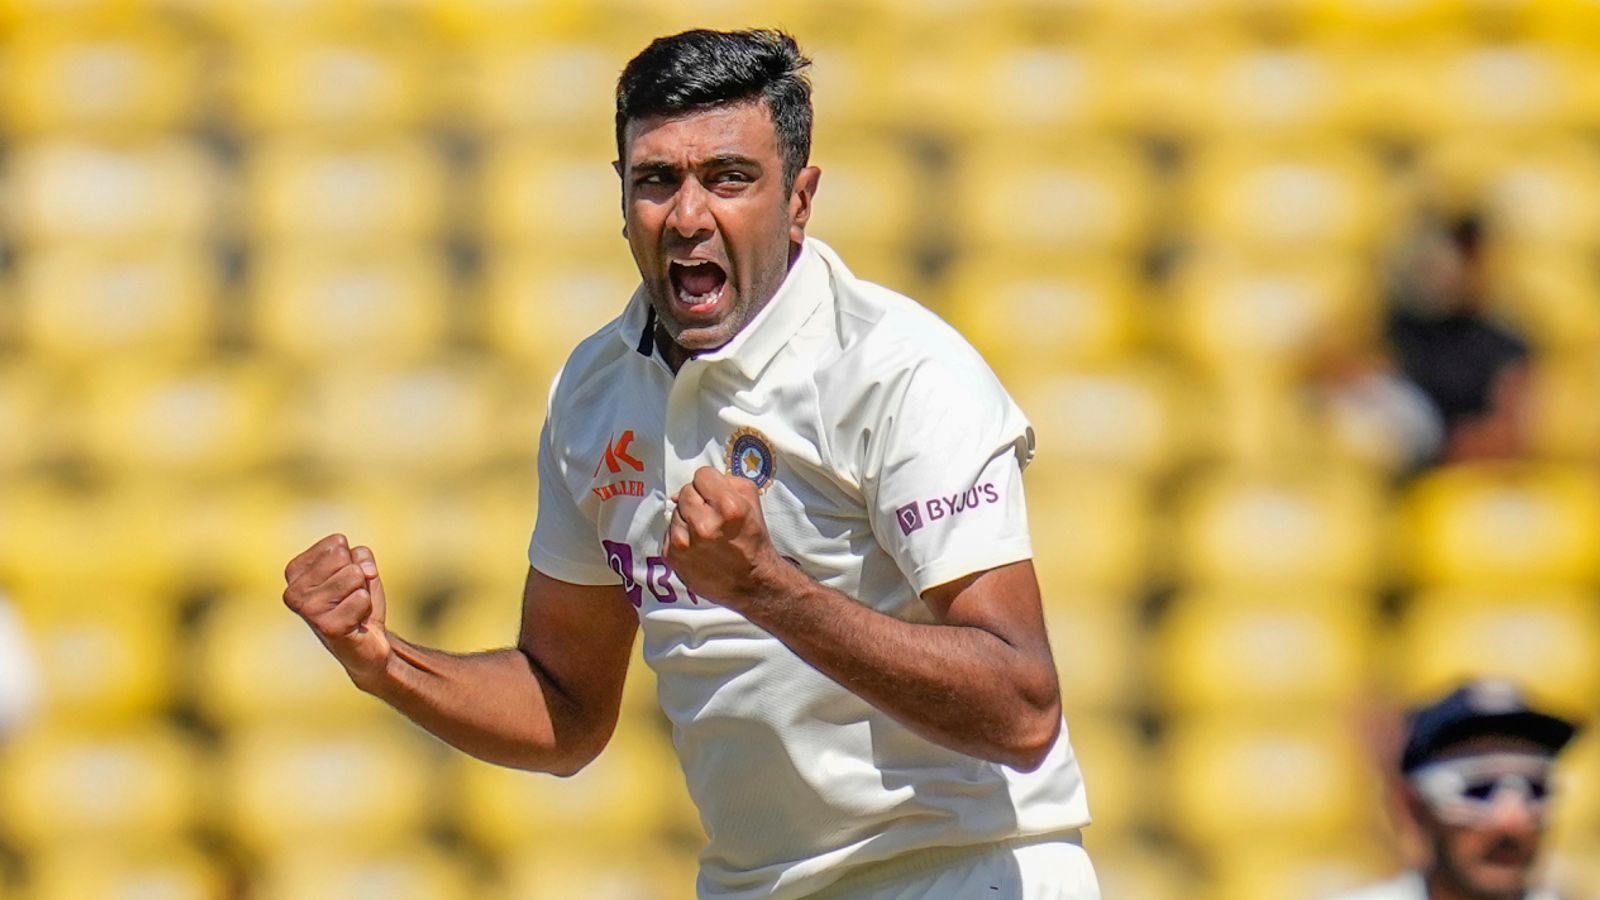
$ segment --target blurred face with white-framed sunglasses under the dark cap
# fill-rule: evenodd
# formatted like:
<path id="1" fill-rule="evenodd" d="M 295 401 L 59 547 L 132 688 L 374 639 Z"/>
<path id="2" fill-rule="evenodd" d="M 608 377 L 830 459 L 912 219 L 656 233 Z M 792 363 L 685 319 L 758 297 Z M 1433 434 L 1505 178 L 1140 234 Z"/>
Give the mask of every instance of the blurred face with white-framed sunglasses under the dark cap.
<path id="1" fill-rule="evenodd" d="M 1437 874 L 1477 900 L 1522 900 L 1539 855 L 1549 780 L 1518 756 L 1538 761 L 1546 751 L 1517 738 L 1478 738 L 1445 756 L 1474 772 L 1461 781 L 1467 804 L 1440 804 L 1422 791 L 1413 798 Z"/>

